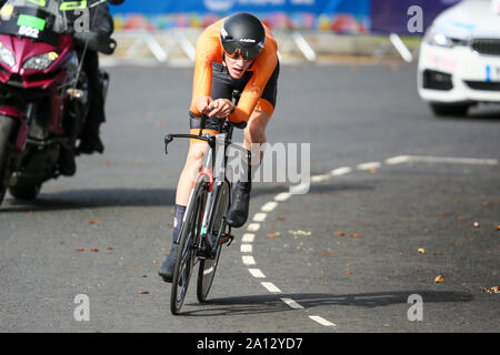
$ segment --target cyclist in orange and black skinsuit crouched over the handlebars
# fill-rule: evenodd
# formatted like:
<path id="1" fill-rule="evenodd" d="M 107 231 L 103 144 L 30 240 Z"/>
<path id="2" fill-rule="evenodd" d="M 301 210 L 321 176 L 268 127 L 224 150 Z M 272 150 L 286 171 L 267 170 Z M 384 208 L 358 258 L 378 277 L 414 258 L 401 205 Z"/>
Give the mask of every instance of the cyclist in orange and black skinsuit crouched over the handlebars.
<path id="1" fill-rule="evenodd" d="M 266 128 L 272 116 L 279 75 L 278 44 L 270 30 L 250 13 L 237 13 L 208 27 L 197 41 L 193 91 L 189 110 L 190 129 L 198 134 L 201 114 L 209 120 L 203 133 L 217 134 L 223 119 L 247 122 L 243 146 L 266 143 Z M 238 105 L 231 101 L 233 90 L 241 92 Z M 202 166 L 206 142 L 191 140 L 186 165 L 179 179 L 173 219 L 173 243 L 159 270 L 171 282 L 176 264 L 179 232 L 196 175 Z M 251 165 L 258 158 L 246 160 L 247 174 L 240 176 L 227 221 L 233 227 L 248 219 Z"/>

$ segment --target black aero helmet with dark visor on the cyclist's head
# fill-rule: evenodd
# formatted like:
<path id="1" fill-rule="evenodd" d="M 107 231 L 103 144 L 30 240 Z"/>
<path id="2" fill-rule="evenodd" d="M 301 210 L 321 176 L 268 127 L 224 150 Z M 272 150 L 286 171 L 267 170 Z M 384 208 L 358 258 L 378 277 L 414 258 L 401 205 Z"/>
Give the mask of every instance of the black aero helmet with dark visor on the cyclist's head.
<path id="1" fill-rule="evenodd" d="M 246 60 L 254 60 L 266 41 L 266 30 L 258 18 L 250 13 L 237 13 L 222 23 L 220 40 L 226 54 Z"/>

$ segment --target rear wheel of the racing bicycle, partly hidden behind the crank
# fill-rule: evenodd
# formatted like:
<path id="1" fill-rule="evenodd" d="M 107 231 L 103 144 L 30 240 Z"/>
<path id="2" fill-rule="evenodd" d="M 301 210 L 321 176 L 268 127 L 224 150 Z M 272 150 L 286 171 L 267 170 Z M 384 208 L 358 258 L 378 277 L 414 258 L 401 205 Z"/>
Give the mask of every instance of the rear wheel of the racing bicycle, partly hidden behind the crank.
<path id="1" fill-rule="evenodd" d="M 213 207 L 213 217 L 212 217 L 212 227 L 211 227 L 211 236 L 212 243 L 216 242 L 216 237 L 221 229 L 226 229 L 226 224 L 223 222 L 223 216 L 229 209 L 230 202 L 230 189 L 229 184 L 224 181 L 221 183 L 217 190 L 217 199 Z M 222 233 L 224 231 L 222 230 Z M 197 282 L 197 297 L 199 302 L 204 302 L 210 292 L 210 288 L 213 283 L 213 277 L 216 276 L 217 266 L 219 264 L 219 257 L 221 253 L 222 244 L 219 243 L 216 245 L 214 257 L 213 258 L 202 258 L 200 261 L 200 267 L 198 270 L 198 282 Z"/>

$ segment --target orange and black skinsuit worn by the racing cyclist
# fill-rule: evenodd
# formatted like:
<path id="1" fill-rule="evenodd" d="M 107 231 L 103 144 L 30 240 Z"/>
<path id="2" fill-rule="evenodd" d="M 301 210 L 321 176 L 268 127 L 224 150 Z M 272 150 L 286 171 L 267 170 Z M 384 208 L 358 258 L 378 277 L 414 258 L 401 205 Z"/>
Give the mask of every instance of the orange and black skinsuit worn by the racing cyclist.
<path id="1" fill-rule="evenodd" d="M 191 133 L 198 134 L 198 111 L 194 102 L 200 97 L 232 99 L 232 91 L 241 92 L 236 110 L 229 115 L 232 122 L 247 122 L 254 109 L 272 115 L 276 105 L 277 81 L 279 75 L 278 44 L 271 31 L 266 29 L 264 47 L 241 79 L 229 75 L 224 64 L 224 50 L 220 39 L 220 29 L 226 19 L 208 27 L 197 41 L 192 100 L 190 108 Z M 220 120 L 222 121 L 222 120 Z M 214 134 L 218 120 L 211 118 L 207 132 Z M 210 129 L 211 128 L 211 129 Z"/>

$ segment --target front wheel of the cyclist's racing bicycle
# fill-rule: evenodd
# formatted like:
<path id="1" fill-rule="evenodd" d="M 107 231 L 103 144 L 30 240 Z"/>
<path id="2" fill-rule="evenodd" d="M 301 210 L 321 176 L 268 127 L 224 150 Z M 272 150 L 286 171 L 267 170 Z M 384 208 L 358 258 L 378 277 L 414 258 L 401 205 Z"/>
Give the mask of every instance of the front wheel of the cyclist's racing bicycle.
<path id="1" fill-rule="evenodd" d="M 180 313 L 194 266 L 196 242 L 200 233 L 206 192 L 206 184 L 203 182 L 198 183 L 186 209 L 170 293 L 170 311 L 174 315 Z"/>

